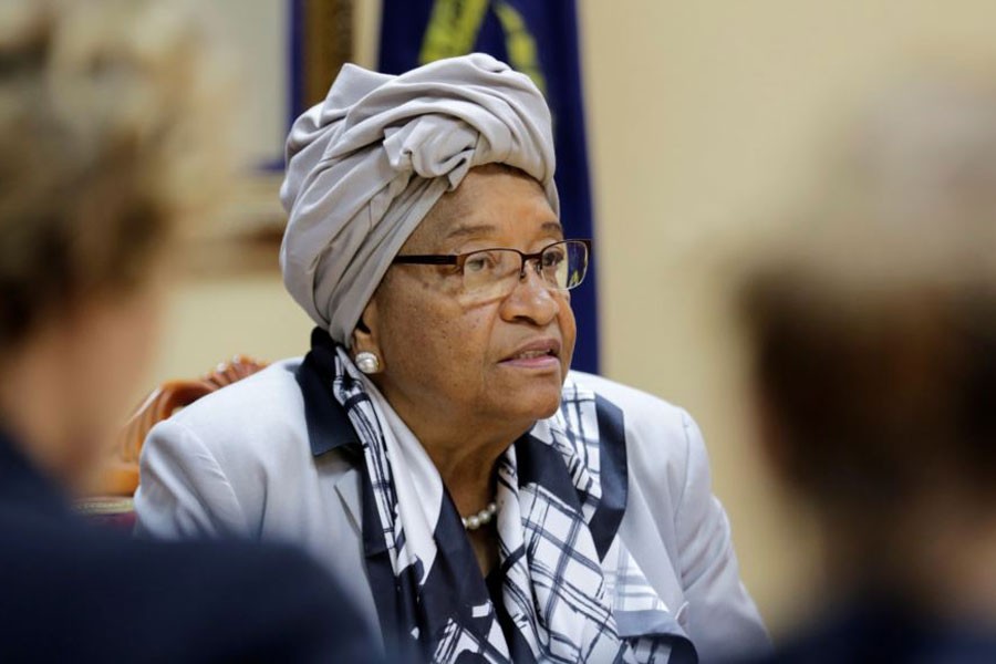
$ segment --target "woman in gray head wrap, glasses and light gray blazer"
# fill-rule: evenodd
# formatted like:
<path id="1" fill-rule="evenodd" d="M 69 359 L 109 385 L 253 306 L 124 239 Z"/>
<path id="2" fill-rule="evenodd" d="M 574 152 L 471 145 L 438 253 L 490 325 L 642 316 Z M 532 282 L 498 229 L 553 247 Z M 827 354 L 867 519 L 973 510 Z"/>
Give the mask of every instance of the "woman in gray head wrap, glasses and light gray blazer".
<path id="1" fill-rule="evenodd" d="M 153 432 L 139 532 L 302 543 L 435 662 L 764 647 L 695 424 L 569 372 L 589 243 L 553 170 L 540 92 L 494 59 L 345 66 L 281 191 L 311 352 Z"/>

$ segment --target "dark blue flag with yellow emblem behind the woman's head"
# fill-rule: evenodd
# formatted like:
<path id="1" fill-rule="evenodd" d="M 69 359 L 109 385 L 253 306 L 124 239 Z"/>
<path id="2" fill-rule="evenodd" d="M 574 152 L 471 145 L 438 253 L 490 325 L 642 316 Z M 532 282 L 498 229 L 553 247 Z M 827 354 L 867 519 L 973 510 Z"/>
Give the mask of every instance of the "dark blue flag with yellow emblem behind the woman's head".
<path id="1" fill-rule="evenodd" d="M 470 52 L 490 53 L 528 74 L 553 114 L 557 187 L 568 237 L 591 238 L 591 184 L 584 138 L 574 0 L 384 0 L 380 69 L 409 69 Z M 574 369 L 598 372 L 594 261 L 571 291 L 578 319 Z"/>

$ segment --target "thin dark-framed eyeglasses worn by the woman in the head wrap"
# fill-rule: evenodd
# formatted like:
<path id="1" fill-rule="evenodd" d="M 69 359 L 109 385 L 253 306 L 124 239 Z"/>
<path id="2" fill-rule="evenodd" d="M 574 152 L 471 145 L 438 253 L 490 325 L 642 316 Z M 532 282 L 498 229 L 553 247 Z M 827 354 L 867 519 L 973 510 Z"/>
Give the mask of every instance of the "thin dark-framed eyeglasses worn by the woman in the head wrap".
<path id="1" fill-rule="evenodd" d="M 530 261 L 549 288 L 560 291 L 577 288 L 588 273 L 590 249 L 591 240 L 561 240 L 547 245 L 536 253 L 495 248 L 457 255 L 396 256 L 392 262 L 456 266 L 463 277 L 463 292 L 487 299 L 508 295 L 518 281 L 526 279 L 526 264 Z"/>

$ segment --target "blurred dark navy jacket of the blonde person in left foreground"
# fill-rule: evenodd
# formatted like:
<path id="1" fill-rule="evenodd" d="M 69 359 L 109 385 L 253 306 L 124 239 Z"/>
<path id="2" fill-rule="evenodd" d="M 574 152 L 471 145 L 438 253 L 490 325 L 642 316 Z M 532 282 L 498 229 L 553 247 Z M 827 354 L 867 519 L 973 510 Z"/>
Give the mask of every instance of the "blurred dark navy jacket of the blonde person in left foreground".
<path id="1" fill-rule="evenodd" d="M 104 531 L 0 434 L 0 662 L 380 662 L 380 649 L 303 553 Z"/>

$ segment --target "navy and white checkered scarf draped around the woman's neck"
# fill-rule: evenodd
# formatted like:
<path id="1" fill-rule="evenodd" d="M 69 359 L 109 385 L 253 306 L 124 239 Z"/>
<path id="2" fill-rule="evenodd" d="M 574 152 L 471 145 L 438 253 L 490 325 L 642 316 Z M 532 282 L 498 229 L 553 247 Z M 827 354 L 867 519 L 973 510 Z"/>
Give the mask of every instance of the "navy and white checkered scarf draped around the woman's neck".
<path id="1" fill-rule="evenodd" d="M 498 608 L 428 455 L 341 347 L 333 393 L 363 446 L 367 571 L 403 652 L 445 663 L 668 661 L 666 636 L 620 634 L 621 615 L 655 624 L 667 608 L 615 533 L 625 457 L 602 467 L 611 456 L 593 393 L 568 381 L 560 411 L 498 463 Z M 623 478 L 621 496 L 608 495 L 619 481 L 603 486 L 610 473 Z"/>

